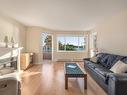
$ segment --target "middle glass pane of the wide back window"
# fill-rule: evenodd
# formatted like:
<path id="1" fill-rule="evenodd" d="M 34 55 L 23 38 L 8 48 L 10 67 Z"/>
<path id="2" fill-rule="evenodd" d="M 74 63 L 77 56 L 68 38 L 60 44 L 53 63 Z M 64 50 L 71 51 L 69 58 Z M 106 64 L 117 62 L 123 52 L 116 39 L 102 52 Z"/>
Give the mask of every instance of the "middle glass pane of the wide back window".
<path id="1" fill-rule="evenodd" d="M 77 51 L 78 48 L 78 37 L 66 37 L 66 51 Z"/>

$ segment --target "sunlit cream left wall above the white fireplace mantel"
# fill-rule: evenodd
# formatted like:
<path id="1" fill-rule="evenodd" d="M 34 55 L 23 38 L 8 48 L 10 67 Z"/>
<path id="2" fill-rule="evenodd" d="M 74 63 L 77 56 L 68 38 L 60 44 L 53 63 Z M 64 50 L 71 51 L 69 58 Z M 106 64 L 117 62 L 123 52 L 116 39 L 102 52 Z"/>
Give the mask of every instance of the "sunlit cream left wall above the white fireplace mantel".
<path id="1" fill-rule="evenodd" d="M 19 46 L 26 47 L 26 27 L 19 22 L 0 14 L 0 42 L 4 41 L 4 37 L 11 37 Z"/>

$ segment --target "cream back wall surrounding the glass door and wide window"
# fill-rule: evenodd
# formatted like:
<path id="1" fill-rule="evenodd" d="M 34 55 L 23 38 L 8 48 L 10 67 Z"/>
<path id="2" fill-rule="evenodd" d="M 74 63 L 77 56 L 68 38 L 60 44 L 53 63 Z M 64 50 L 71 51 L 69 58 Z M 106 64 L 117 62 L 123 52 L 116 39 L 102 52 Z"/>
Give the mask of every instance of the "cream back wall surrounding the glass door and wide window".
<path id="1" fill-rule="evenodd" d="M 72 32 L 72 31 L 55 31 L 44 29 L 40 27 L 29 27 L 27 29 L 27 51 L 36 53 L 36 62 L 42 62 L 42 52 L 40 50 L 40 36 L 41 33 L 49 33 L 53 35 L 53 61 L 58 59 L 82 59 L 88 56 L 88 50 L 86 52 L 57 52 L 57 35 L 59 34 L 71 34 L 71 35 L 87 35 L 87 32 Z"/>

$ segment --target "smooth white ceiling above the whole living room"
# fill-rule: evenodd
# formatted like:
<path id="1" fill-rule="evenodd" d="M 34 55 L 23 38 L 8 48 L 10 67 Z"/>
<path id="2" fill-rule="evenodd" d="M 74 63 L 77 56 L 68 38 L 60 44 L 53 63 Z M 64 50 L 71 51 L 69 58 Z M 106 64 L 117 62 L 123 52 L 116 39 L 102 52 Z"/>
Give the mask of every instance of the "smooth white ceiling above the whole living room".
<path id="1" fill-rule="evenodd" d="M 27 26 L 89 30 L 127 8 L 127 0 L 0 0 L 0 12 Z"/>

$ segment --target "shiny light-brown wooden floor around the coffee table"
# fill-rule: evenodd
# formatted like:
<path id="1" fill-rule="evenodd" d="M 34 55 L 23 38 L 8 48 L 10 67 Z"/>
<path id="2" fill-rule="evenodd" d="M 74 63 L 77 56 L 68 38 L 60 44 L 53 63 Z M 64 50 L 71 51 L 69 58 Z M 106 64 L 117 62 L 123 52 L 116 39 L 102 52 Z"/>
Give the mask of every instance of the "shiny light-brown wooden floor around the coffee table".
<path id="1" fill-rule="evenodd" d="M 22 95 L 107 95 L 89 75 L 87 90 L 82 91 L 77 79 L 69 79 L 69 89 L 65 90 L 64 62 L 33 66 L 22 74 L 21 85 Z"/>

